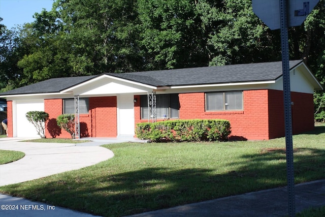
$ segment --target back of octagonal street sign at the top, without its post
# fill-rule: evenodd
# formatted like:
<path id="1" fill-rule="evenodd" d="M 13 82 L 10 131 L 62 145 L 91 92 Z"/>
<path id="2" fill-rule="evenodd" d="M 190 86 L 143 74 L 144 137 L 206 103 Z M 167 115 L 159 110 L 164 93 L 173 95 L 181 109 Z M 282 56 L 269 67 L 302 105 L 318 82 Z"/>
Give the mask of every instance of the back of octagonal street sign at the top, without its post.
<path id="1" fill-rule="evenodd" d="M 288 0 L 288 27 L 301 25 L 319 0 Z M 280 28 L 279 0 L 252 0 L 253 12 L 270 29 Z"/>

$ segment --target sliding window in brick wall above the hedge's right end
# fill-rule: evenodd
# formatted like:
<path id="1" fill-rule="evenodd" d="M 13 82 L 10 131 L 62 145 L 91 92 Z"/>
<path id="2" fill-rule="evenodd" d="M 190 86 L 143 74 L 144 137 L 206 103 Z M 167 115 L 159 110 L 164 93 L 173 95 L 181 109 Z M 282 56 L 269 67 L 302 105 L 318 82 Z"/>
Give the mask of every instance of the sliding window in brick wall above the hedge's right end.
<path id="1" fill-rule="evenodd" d="M 207 92 L 206 111 L 243 110 L 243 91 Z"/>

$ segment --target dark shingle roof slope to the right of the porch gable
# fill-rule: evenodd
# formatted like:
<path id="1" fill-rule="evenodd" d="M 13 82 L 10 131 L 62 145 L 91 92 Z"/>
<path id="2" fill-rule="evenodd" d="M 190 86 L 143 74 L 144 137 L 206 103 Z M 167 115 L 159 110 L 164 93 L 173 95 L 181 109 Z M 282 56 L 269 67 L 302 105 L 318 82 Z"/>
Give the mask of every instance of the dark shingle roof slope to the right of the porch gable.
<path id="1" fill-rule="evenodd" d="M 290 68 L 302 60 L 290 61 Z M 257 64 L 238 64 L 147 72 L 113 74 L 111 76 L 153 86 L 221 84 L 275 80 L 282 76 L 282 61 Z"/>

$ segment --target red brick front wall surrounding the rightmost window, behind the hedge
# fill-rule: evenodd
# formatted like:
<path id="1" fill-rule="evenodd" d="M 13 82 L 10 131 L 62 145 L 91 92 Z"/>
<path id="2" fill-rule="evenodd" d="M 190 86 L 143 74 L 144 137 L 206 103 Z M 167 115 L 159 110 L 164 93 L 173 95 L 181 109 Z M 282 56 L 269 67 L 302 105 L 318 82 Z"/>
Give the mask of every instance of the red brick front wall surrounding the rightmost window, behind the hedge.
<path id="1" fill-rule="evenodd" d="M 243 91 L 244 110 L 205 111 L 204 92 L 179 94 L 180 119 L 226 119 L 233 137 L 268 139 L 268 90 Z"/>

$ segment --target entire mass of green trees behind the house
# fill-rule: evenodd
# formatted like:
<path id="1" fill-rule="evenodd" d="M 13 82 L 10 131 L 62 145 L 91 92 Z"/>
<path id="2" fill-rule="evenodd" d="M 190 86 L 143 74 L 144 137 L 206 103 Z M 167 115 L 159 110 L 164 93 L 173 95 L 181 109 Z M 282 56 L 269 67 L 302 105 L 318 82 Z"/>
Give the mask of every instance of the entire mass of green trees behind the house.
<path id="1" fill-rule="evenodd" d="M 305 59 L 322 83 L 324 9 L 320 0 L 288 29 L 290 59 Z M 281 60 L 280 31 L 250 0 L 56 0 L 34 18 L 14 29 L 0 18 L 1 91 L 55 77 Z M 325 109 L 323 93 L 316 98 Z"/>

